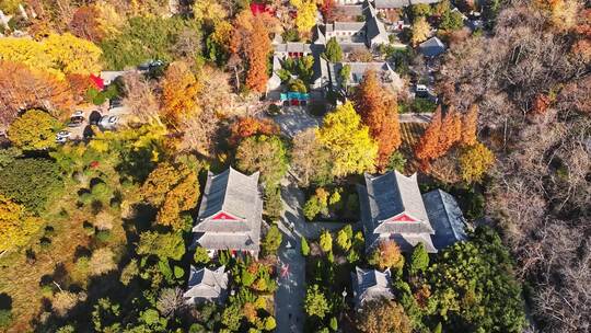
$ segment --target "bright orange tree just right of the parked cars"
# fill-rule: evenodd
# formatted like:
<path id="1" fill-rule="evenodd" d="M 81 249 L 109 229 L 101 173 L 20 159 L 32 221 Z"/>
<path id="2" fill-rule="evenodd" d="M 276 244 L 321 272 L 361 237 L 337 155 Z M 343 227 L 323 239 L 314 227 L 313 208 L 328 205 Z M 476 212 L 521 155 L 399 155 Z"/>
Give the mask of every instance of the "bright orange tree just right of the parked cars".
<path id="1" fill-rule="evenodd" d="M 195 78 L 187 64 L 173 62 L 166 69 L 162 80 L 162 116 L 173 127 L 196 114 L 197 94 L 201 84 Z"/>

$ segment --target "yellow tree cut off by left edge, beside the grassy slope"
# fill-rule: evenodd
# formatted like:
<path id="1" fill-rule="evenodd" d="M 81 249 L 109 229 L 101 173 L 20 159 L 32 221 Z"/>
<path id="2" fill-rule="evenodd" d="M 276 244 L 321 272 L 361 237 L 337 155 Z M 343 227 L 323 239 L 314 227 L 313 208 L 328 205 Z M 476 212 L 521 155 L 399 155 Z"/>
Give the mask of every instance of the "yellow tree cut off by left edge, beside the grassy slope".
<path id="1" fill-rule="evenodd" d="M 0 252 L 25 245 L 42 227 L 39 218 L 0 194 Z"/>

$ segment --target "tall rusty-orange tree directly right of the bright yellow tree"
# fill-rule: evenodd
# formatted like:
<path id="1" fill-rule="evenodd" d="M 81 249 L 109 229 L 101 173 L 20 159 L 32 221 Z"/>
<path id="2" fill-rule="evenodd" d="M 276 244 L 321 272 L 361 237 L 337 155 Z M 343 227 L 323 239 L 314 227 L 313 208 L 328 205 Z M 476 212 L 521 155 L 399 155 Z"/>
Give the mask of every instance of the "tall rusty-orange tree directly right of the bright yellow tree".
<path id="1" fill-rule="evenodd" d="M 378 143 L 376 164 L 383 169 L 402 143 L 396 96 L 380 84 L 375 71 L 369 70 L 357 89 L 355 106 Z"/>

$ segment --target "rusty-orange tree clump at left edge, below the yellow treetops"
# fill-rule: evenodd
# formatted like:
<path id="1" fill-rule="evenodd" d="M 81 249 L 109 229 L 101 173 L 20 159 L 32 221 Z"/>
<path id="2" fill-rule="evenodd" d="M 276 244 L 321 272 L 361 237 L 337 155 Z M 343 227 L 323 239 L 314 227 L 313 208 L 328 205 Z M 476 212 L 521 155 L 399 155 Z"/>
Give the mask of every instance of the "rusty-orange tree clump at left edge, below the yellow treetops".
<path id="1" fill-rule="evenodd" d="M 68 82 L 50 73 L 0 61 L 0 127 L 10 125 L 21 110 L 43 108 L 60 118 L 73 106 Z"/>

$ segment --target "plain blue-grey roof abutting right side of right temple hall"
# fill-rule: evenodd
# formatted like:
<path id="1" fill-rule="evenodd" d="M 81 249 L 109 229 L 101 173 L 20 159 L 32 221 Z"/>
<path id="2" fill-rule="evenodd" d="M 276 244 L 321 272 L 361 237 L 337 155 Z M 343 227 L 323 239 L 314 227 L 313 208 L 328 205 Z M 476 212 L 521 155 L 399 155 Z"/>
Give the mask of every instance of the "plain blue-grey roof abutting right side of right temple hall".
<path id="1" fill-rule="evenodd" d="M 422 199 L 427 207 L 429 220 L 436 230 L 432 239 L 433 245 L 438 250 L 467 239 L 464 231 L 464 216 L 451 194 L 434 190 L 424 194 Z"/>

